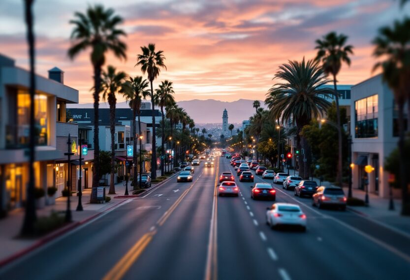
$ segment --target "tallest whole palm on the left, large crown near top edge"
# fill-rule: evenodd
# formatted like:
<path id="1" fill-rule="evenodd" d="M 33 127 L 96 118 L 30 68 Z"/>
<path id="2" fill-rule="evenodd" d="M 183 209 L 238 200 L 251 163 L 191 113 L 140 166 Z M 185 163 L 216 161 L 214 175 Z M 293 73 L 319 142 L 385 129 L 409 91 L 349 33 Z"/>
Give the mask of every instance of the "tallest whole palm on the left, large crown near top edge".
<path id="1" fill-rule="evenodd" d="M 98 106 L 101 86 L 101 68 L 105 63 L 105 55 L 108 50 L 114 56 L 126 59 L 126 44 L 120 40 L 125 32 L 117 26 L 122 23 L 120 16 L 114 15 L 113 9 L 104 9 L 102 5 L 88 7 L 85 14 L 76 12 L 75 19 L 70 21 L 74 25 L 71 33 L 72 46 L 68 50 L 68 56 L 73 59 L 80 52 L 91 48 L 91 63 L 94 69 L 94 163 L 93 163 L 93 194 L 90 202 L 95 197 L 98 187 L 99 174 L 99 143 L 98 143 Z"/>

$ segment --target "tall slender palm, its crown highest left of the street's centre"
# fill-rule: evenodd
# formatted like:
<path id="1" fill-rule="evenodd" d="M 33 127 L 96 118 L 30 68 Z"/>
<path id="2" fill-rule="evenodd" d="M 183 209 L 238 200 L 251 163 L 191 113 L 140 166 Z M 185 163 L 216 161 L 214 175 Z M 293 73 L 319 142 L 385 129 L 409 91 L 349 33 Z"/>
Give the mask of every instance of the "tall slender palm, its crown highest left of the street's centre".
<path id="1" fill-rule="evenodd" d="M 151 178 L 157 178 L 157 135 L 155 133 L 155 101 L 153 81 L 159 76 L 160 68 L 165 68 L 165 56 L 163 51 L 155 51 L 155 44 L 148 44 L 148 47 L 141 47 L 142 55 L 138 55 L 137 64 L 141 66 L 143 74 L 148 74 L 148 81 L 151 84 L 151 104 L 152 104 L 152 158 L 151 158 Z"/>

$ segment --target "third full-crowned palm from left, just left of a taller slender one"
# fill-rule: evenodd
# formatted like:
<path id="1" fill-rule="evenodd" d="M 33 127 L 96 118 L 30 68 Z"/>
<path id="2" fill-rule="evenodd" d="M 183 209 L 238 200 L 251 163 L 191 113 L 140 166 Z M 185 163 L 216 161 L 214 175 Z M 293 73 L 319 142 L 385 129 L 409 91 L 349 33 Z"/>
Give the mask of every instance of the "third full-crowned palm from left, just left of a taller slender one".
<path id="1" fill-rule="evenodd" d="M 133 135 L 133 147 L 134 147 L 134 156 L 133 156 L 133 162 L 134 162 L 134 170 L 133 173 L 134 175 L 132 176 L 132 185 L 134 186 L 134 189 L 137 188 L 137 165 L 135 164 L 137 162 L 138 156 L 137 156 L 137 132 L 136 132 L 136 125 L 135 125 L 135 119 L 136 116 L 138 115 L 138 133 L 141 135 L 141 103 L 142 99 L 146 99 L 147 96 L 149 96 L 150 92 L 147 90 L 148 87 L 148 81 L 143 80 L 142 76 L 135 76 L 134 78 L 130 77 L 128 79 L 128 83 L 130 84 L 130 90 L 124 93 L 124 97 L 128 101 L 129 108 L 132 110 L 132 135 Z M 141 146 L 141 140 L 140 140 L 140 149 L 142 149 Z M 140 164 L 139 166 L 139 173 L 142 174 L 142 165 Z M 141 177 L 141 176 L 140 176 Z"/>

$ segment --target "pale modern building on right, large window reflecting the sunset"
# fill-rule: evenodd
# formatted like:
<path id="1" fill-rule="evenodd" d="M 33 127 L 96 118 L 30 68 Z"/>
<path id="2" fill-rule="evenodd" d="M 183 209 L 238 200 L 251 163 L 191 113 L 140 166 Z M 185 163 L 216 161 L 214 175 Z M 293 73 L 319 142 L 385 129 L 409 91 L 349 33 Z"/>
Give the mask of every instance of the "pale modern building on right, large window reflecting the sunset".
<path id="1" fill-rule="evenodd" d="M 353 188 L 365 190 L 368 183 L 370 193 L 388 197 L 389 173 L 384 170 L 384 161 L 398 142 L 393 94 L 377 75 L 352 86 L 351 96 Z M 364 170 L 366 165 L 375 168 L 369 175 Z"/>

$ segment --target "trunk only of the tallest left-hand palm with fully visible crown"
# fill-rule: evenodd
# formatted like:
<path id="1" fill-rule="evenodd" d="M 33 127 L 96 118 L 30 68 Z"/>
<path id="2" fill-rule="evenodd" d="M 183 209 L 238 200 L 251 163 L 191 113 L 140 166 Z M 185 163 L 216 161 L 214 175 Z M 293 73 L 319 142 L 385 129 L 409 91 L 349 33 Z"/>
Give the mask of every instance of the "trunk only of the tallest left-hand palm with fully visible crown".
<path id="1" fill-rule="evenodd" d="M 96 203 L 97 200 L 95 199 L 98 181 L 99 181 L 99 142 L 98 142 L 98 118 L 99 118 L 99 92 L 100 92 L 100 85 L 101 85 L 101 65 L 96 64 L 94 65 L 94 163 L 93 163 L 93 188 L 92 194 L 90 196 L 90 202 Z M 93 199 L 94 198 L 94 199 Z"/>

